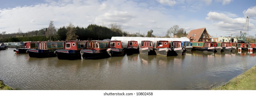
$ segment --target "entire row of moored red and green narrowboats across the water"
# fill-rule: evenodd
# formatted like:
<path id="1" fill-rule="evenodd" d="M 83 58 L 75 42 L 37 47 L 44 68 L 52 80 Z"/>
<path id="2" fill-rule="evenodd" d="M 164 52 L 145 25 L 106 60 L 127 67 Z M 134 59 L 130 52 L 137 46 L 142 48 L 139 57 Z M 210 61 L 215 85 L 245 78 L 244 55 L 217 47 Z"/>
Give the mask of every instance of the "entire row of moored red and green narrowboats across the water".
<path id="1" fill-rule="evenodd" d="M 15 53 L 28 53 L 33 58 L 57 56 L 61 60 L 102 59 L 134 53 L 144 55 L 176 56 L 186 52 L 255 51 L 255 44 L 225 42 L 182 41 L 39 41 L 26 42 Z"/>

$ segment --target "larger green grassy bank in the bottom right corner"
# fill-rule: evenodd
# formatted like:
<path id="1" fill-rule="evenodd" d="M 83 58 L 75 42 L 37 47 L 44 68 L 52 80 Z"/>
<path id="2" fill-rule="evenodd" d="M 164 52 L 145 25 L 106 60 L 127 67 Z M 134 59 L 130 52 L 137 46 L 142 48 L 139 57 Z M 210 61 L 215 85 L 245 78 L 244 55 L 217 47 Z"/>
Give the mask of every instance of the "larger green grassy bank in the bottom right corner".
<path id="1" fill-rule="evenodd" d="M 256 90 L 256 65 L 229 80 L 225 85 L 214 87 L 211 90 Z"/>

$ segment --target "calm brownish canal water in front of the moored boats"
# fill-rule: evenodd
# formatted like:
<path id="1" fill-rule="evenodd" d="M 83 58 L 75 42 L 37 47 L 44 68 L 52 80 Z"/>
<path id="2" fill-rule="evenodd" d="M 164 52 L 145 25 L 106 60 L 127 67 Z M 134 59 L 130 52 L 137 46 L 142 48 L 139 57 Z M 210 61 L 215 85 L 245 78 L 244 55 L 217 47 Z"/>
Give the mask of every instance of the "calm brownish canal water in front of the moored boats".
<path id="1" fill-rule="evenodd" d="M 58 60 L 13 50 L 0 51 L 0 80 L 22 90 L 208 90 L 256 64 L 255 51 Z"/>

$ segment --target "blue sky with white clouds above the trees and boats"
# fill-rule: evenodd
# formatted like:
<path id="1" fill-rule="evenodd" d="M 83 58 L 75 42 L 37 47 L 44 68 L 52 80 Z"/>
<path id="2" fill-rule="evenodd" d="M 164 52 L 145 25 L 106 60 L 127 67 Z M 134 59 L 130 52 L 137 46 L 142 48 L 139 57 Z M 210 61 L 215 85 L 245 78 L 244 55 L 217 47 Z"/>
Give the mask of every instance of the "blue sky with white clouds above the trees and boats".
<path id="1" fill-rule="evenodd" d="M 213 37 L 240 36 L 247 16 L 248 34 L 255 36 L 255 0 L 0 0 L 0 33 L 40 30 L 54 21 L 55 28 L 116 23 L 129 33 L 152 29 L 164 36 L 179 25 L 187 32 L 205 27 Z"/>

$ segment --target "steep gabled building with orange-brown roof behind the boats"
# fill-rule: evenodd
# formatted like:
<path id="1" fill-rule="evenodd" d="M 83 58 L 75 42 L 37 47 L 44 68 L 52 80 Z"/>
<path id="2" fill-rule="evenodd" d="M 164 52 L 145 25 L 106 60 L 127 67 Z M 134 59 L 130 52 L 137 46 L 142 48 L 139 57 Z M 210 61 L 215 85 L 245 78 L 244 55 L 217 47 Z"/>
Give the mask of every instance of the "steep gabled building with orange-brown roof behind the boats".
<path id="1" fill-rule="evenodd" d="M 190 42 L 211 42 L 211 36 L 208 34 L 206 28 L 190 30 L 187 38 Z"/>

